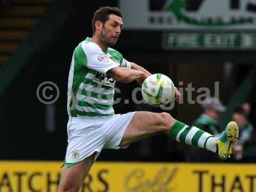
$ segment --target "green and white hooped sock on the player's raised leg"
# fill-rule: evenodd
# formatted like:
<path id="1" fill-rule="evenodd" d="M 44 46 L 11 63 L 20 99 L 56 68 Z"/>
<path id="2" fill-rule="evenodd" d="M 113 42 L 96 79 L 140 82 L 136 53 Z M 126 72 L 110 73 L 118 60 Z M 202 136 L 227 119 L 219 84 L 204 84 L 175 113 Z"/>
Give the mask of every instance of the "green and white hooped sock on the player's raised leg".
<path id="1" fill-rule="evenodd" d="M 195 126 L 189 127 L 188 125 L 177 121 L 170 130 L 170 137 L 180 143 L 194 145 L 216 152 L 218 138 L 214 138 L 214 136 L 208 132 L 202 131 Z"/>

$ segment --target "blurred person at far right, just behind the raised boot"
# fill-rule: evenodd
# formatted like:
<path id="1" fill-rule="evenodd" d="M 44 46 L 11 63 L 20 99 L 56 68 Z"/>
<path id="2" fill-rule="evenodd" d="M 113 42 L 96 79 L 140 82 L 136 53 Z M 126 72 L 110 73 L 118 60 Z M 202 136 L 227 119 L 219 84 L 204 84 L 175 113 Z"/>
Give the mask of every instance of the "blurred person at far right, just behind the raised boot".
<path id="1" fill-rule="evenodd" d="M 241 160 L 243 159 L 246 147 L 252 144 L 253 125 L 248 120 L 247 112 L 242 108 L 234 109 L 232 113 L 232 120 L 237 123 L 240 131 L 239 138 L 233 150 L 234 159 Z"/>

